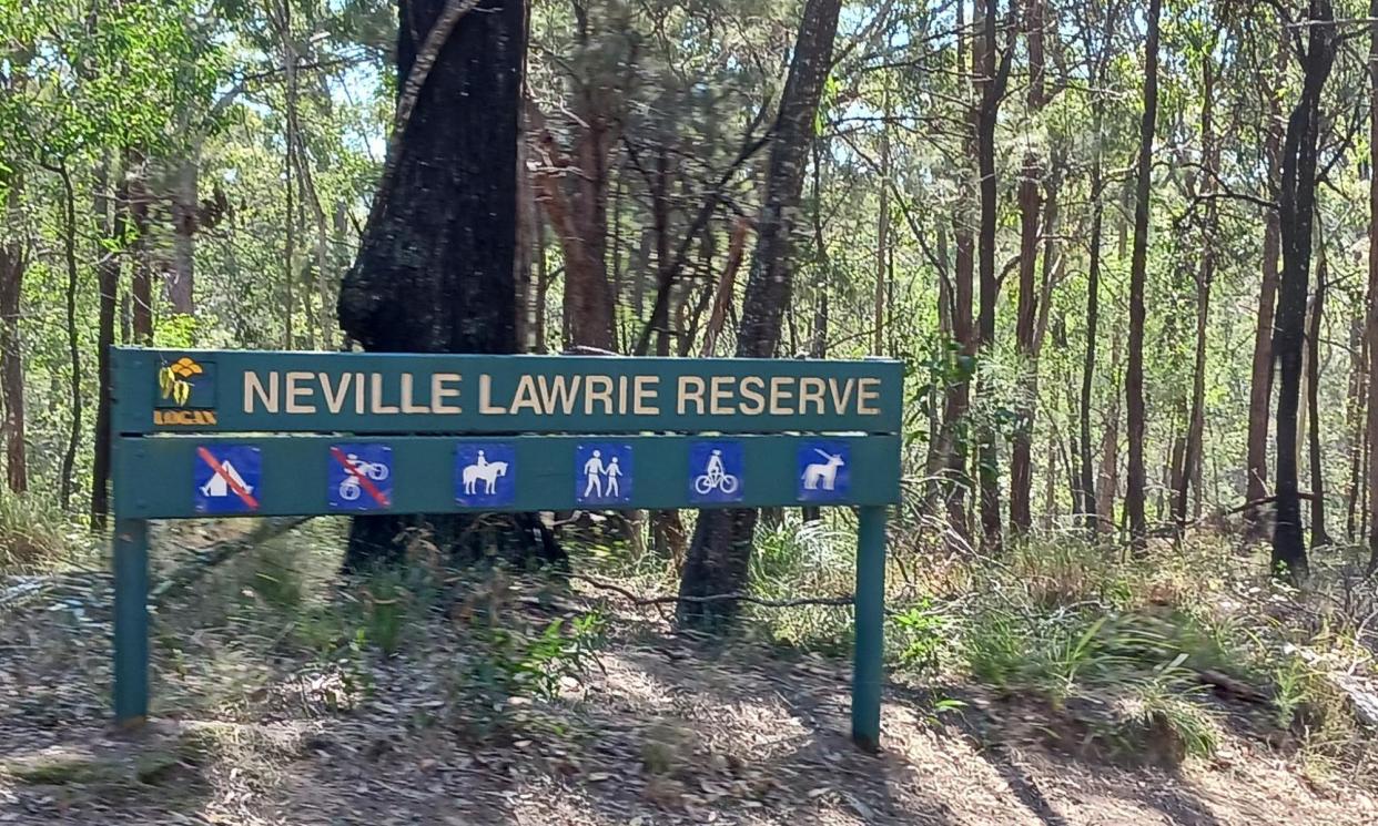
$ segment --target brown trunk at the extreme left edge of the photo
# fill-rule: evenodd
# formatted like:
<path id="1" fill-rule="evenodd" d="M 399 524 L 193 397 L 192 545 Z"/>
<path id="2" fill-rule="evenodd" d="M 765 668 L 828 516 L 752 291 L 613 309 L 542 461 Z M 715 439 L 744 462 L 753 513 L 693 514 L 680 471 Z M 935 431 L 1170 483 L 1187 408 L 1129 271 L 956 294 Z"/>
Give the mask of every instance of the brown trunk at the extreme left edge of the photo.
<path id="1" fill-rule="evenodd" d="M 7 212 L 19 206 L 23 180 L 10 180 Z M 29 460 L 25 450 L 23 343 L 19 336 L 19 307 L 29 251 L 22 238 L 0 241 L 0 395 L 4 398 L 6 483 L 12 493 L 29 490 Z"/>

